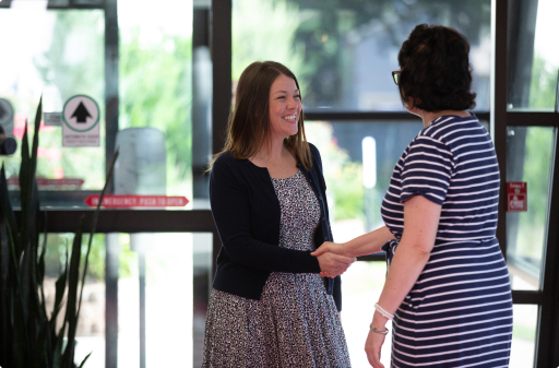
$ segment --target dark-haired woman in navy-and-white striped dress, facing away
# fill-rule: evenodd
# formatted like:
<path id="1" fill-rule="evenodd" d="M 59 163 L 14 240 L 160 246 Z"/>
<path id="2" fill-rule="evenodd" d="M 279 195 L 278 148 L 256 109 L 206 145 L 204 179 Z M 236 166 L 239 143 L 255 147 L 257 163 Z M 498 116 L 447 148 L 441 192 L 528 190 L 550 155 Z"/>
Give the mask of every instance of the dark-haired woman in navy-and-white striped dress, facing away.
<path id="1" fill-rule="evenodd" d="M 393 72 L 405 108 L 424 129 L 404 151 L 382 202 L 385 226 L 331 251 L 386 252 L 386 281 L 365 351 L 380 351 L 392 320 L 391 367 L 508 367 L 512 337 L 509 273 L 496 238 L 499 167 L 475 115 L 469 43 L 421 24 Z"/>

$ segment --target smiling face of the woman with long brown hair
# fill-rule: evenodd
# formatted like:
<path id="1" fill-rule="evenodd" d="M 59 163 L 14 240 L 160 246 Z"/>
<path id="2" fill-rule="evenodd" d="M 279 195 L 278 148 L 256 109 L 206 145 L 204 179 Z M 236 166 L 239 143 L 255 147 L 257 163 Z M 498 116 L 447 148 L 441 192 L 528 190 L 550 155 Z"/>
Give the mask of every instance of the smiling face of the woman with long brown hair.
<path id="1" fill-rule="evenodd" d="M 297 134 L 302 109 L 300 92 L 295 80 L 280 74 L 270 87 L 270 132 L 272 139 Z"/>

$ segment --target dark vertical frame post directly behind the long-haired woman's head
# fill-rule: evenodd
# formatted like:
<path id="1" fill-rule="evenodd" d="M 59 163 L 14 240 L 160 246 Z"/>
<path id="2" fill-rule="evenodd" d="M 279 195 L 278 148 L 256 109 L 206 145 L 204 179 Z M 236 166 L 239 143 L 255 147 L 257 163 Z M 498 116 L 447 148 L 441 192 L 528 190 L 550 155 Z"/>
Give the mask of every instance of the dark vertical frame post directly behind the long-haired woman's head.
<path id="1" fill-rule="evenodd" d="M 225 145 L 231 104 L 231 0 L 212 0 L 212 152 Z"/>

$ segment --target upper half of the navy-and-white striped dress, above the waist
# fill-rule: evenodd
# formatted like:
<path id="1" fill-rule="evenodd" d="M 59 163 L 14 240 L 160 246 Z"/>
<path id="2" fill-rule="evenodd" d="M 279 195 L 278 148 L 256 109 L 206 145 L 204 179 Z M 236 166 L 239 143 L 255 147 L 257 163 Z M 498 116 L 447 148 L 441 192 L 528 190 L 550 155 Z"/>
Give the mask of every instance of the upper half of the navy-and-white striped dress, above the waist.
<path id="1" fill-rule="evenodd" d="M 475 116 L 442 116 L 404 151 L 381 214 L 396 238 L 403 202 L 414 195 L 442 205 L 437 244 L 490 239 L 497 228 L 499 167 L 489 133 Z"/>

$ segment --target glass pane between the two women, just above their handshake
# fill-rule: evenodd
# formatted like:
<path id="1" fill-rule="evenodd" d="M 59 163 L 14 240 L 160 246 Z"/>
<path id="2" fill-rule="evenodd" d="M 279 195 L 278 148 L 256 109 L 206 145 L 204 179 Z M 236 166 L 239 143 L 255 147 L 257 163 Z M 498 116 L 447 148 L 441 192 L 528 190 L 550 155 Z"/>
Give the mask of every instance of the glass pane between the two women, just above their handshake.
<path id="1" fill-rule="evenodd" d="M 305 122 L 308 141 L 322 156 L 336 241 L 353 239 L 383 225 L 380 204 L 392 171 L 421 128 L 419 119 L 417 122 Z M 372 147 L 367 143 L 371 141 Z"/>

